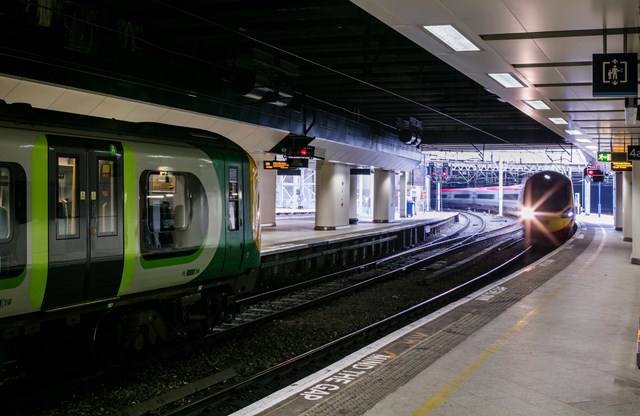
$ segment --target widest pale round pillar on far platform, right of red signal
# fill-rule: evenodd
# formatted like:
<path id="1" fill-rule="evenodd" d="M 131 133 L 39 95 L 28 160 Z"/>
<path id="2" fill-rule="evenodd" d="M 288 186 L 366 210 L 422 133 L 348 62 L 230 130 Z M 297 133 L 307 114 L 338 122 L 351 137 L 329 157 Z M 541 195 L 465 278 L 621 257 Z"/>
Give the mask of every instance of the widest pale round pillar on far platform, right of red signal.
<path id="1" fill-rule="evenodd" d="M 349 228 L 351 170 L 330 162 L 316 171 L 316 230 Z"/>

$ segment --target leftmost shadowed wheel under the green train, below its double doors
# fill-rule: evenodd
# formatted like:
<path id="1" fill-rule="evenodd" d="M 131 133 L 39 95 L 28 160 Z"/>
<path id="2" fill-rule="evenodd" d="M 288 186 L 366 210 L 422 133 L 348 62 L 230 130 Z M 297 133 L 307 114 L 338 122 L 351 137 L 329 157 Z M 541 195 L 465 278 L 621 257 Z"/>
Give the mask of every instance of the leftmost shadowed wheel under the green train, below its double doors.
<path id="1" fill-rule="evenodd" d="M 122 315 L 116 311 L 102 315 L 93 331 L 94 358 L 107 366 L 121 364 L 127 357 L 128 344 L 122 331 Z"/>

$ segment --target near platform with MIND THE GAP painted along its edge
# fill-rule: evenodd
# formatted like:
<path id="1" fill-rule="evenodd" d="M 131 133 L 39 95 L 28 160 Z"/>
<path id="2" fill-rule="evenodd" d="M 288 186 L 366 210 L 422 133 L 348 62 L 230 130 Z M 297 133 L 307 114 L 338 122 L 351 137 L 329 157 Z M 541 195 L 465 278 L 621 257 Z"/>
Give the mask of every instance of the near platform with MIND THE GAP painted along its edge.
<path id="1" fill-rule="evenodd" d="M 241 415 L 640 415 L 640 266 L 611 217 Z"/>

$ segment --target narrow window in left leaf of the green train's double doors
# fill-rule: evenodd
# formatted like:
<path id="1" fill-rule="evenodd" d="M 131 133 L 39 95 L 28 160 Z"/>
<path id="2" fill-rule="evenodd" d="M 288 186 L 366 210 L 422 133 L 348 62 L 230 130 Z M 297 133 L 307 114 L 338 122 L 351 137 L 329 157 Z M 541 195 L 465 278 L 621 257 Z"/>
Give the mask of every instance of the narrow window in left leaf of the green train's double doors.
<path id="1" fill-rule="evenodd" d="M 56 205 L 56 236 L 58 239 L 78 238 L 78 160 L 76 157 L 58 157 L 58 195 Z"/>

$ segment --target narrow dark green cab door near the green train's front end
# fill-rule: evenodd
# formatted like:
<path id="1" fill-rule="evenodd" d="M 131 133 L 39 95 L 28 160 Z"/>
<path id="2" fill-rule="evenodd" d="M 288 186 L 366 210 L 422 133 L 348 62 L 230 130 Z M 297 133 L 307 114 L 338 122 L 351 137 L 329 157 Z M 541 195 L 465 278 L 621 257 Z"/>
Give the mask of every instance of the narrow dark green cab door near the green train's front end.
<path id="1" fill-rule="evenodd" d="M 244 208 L 242 199 L 242 161 L 237 155 L 227 155 L 227 221 L 226 221 L 226 255 L 224 271 L 234 272 L 242 264 L 244 256 Z"/>

